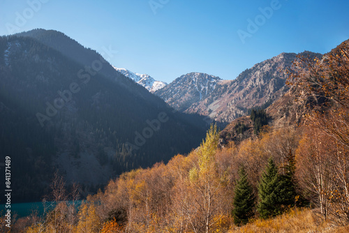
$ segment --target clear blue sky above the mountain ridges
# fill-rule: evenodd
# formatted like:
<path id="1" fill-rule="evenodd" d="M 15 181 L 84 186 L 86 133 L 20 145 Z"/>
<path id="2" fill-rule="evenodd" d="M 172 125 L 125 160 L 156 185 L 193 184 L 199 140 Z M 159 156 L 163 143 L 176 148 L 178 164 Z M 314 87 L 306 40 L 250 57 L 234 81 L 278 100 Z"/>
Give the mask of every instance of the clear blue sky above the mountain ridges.
<path id="1" fill-rule="evenodd" d="M 37 1 L 0 0 L 0 35 L 13 32 L 8 25 L 16 32 L 62 31 L 98 52 L 117 50 L 106 58 L 114 66 L 165 82 L 190 72 L 232 80 L 281 52 L 325 53 L 349 38 L 348 0 L 41 0 L 40 7 L 29 6 Z M 258 8 L 270 6 L 272 15 L 261 17 Z M 27 22 L 16 24 L 16 13 Z M 258 31 L 250 28 L 242 43 L 238 30 L 248 33 L 248 19 L 259 20 Z"/>

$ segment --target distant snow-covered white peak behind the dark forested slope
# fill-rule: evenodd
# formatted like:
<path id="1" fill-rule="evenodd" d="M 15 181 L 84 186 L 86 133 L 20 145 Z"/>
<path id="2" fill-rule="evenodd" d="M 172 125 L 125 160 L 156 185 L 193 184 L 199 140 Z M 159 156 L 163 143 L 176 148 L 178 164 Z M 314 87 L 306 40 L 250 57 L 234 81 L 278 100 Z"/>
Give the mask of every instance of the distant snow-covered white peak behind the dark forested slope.
<path id="1" fill-rule="evenodd" d="M 114 66 L 113 66 L 114 67 Z M 138 84 L 145 87 L 148 91 L 151 93 L 154 93 L 155 91 L 158 91 L 159 89 L 162 89 L 167 85 L 165 82 L 156 81 L 153 77 L 150 77 L 149 75 L 142 75 L 138 73 L 133 73 L 130 70 L 127 70 L 125 68 L 116 68 L 119 73 L 125 75 L 126 77 L 131 78 L 131 80 L 137 82 Z"/>

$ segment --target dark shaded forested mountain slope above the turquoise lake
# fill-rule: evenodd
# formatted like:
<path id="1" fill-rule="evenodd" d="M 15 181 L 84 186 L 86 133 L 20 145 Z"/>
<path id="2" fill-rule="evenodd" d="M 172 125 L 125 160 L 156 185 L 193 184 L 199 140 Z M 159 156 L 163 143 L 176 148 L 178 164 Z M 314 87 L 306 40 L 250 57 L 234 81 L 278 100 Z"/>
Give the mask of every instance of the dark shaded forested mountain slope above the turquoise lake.
<path id="1" fill-rule="evenodd" d="M 174 112 L 62 33 L 29 34 L 0 38 L 0 151 L 17 174 L 13 200 L 40 200 L 56 169 L 91 190 L 200 143 L 201 117 Z"/>

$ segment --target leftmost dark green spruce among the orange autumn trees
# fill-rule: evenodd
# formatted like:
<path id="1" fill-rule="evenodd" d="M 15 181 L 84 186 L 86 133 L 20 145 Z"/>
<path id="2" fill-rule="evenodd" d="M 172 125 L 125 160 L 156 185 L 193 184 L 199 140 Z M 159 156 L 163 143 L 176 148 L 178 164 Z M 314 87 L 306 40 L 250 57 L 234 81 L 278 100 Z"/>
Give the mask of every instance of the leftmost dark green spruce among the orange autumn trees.
<path id="1" fill-rule="evenodd" d="M 232 216 L 236 225 L 248 223 L 248 219 L 253 217 L 255 197 L 251 184 L 247 180 L 244 167 L 239 170 L 239 180 L 235 186 L 235 197 L 233 201 Z"/>

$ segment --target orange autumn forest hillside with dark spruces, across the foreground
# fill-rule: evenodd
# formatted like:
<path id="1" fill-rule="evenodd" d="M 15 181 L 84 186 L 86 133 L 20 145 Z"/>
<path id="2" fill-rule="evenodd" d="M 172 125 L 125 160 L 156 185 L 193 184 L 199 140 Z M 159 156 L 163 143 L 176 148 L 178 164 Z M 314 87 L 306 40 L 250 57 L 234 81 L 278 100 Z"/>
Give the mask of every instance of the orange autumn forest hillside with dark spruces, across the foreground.
<path id="1" fill-rule="evenodd" d="M 77 213 L 59 181 L 56 208 L 27 232 L 336 232 L 349 223 L 348 47 L 288 70 L 304 126 L 223 148 L 211 126 L 198 149 L 121 174 Z"/>

